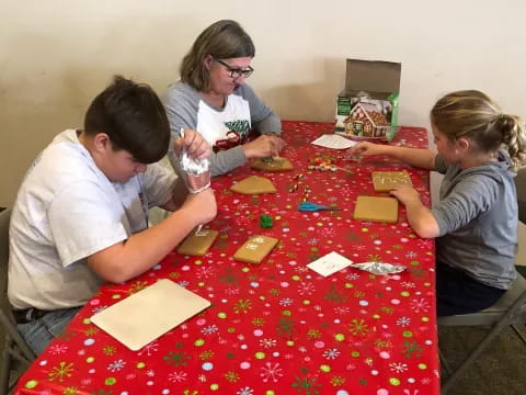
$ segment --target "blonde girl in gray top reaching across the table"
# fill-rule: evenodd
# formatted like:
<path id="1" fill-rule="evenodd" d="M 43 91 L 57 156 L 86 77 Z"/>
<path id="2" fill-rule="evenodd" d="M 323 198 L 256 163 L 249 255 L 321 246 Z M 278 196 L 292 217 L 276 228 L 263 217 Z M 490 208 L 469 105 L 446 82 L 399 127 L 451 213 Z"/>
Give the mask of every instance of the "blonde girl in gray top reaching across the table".
<path id="1" fill-rule="evenodd" d="M 437 154 L 376 145 L 352 155 L 389 155 L 444 174 L 441 201 L 426 207 L 404 185 L 391 191 L 405 205 L 408 222 L 436 238 L 436 294 L 439 316 L 468 314 L 494 304 L 515 279 L 517 198 L 515 170 L 526 162 L 523 121 L 505 114 L 476 90 L 446 94 L 431 111 Z"/>

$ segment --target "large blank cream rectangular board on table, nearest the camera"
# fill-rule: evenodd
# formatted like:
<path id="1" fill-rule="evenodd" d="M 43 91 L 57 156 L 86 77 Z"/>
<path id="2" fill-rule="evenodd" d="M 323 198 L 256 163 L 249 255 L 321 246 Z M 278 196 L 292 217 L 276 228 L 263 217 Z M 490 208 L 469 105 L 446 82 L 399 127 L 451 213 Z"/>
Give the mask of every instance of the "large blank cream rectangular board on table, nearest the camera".
<path id="1" fill-rule="evenodd" d="M 209 306 L 209 301 L 163 279 L 96 313 L 91 321 L 137 351 Z"/>

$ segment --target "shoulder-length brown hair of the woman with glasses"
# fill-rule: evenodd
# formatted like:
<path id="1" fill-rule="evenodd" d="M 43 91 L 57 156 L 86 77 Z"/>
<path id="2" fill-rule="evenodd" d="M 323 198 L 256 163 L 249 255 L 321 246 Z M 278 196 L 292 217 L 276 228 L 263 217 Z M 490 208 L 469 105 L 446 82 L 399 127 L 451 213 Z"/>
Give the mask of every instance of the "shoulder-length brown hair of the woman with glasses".
<path id="1" fill-rule="evenodd" d="M 208 89 L 210 78 L 205 67 L 207 56 L 215 59 L 254 57 L 252 38 L 236 21 L 217 21 L 206 27 L 195 40 L 192 48 L 183 58 L 180 68 L 181 81 L 198 92 Z"/>

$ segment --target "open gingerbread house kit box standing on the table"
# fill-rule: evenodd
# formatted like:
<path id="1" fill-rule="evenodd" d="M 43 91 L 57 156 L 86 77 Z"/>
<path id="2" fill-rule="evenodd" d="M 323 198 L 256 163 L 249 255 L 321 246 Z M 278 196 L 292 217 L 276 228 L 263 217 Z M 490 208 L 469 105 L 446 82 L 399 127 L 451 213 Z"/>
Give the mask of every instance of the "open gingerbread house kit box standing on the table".
<path id="1" fill-rule="evenodd" d="M 390 142 L 397 134 L 402 65 L 347 59 L 345 88 L 336 99 L 336 134 Z"/>

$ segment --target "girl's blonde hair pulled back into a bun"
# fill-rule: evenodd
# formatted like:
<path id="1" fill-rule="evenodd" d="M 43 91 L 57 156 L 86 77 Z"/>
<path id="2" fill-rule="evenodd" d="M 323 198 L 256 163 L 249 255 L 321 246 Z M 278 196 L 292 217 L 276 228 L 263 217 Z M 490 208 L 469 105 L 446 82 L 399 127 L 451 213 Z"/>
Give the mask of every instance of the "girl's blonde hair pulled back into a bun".
<path id="1" fill-rule="evenodd" d="M 512 168 L 526 162 L 526 129 L 523 120 L 504 114 L 488 95 L 477 90 L 446 94 L 431 110 L 431 122 L 451 142 L 466 137 L 484 153 L 505 148 Z"/>

